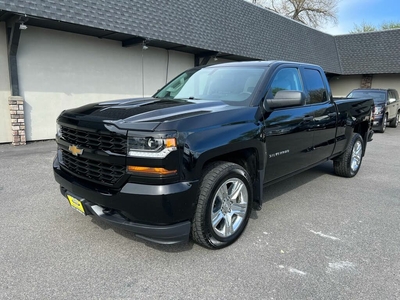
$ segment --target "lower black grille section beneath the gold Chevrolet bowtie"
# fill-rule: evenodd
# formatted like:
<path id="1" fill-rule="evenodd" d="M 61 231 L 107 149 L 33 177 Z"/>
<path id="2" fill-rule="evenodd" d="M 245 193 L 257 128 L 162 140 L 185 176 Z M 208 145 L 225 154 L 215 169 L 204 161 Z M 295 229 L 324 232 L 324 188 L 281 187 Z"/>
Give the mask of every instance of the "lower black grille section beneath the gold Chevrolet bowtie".
<path id="1" fill-rule="evenodd" d="M 62 151 L 62 165 L 73 174 L 97 183 L 115 184 L 124 174 L 125 166 L 111 165 Z"/>

